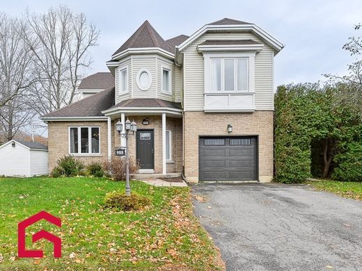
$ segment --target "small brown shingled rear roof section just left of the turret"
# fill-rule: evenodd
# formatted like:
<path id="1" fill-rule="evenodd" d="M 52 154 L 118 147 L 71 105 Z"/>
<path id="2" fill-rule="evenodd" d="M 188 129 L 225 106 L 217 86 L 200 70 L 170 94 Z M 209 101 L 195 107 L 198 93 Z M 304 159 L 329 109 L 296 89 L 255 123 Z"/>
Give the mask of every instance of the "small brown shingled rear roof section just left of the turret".
<path id="1" fill-rule="evenodd" d="M 114 76 L 111 72 L 97 72 L 84 78 L 78 90 L 107 90 L 114 86 Z"/>

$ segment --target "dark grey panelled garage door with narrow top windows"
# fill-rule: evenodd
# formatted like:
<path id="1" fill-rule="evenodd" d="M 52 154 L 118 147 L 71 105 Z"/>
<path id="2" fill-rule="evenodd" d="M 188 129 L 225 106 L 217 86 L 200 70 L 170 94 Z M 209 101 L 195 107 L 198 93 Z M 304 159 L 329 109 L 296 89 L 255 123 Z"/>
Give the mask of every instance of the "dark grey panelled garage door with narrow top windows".
<path id="1" fill-rule="evenodd" d="M 200 181 L 256 181 L 255 137 L 203 137 L 198 142 Z"/>

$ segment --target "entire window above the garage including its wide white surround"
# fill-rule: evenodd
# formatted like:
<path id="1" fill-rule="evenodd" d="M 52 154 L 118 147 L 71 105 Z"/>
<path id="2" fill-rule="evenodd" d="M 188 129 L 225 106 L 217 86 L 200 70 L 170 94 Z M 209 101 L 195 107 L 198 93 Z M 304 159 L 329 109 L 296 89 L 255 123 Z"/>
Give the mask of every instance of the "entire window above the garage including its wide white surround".
<path id="1" fill-rule="evenodd" d="M 205 53 L 205 92 L 254 92 L 255 53 Z"/>

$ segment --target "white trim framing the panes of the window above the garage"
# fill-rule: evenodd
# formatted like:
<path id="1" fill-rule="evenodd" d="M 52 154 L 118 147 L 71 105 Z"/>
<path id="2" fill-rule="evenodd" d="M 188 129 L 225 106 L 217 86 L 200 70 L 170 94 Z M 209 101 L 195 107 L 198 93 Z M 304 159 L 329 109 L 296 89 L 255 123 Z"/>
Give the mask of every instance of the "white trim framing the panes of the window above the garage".
<path id="1" fill-rule="evenodd" d="M 255 52 L 250 53 L 204 53 L 204 84 L 205 84 L 205 93 L 212 93 L 212 94 L 228 94 L 228 93 L 245 93 L 245 92 L 255 92 Z M 223 74 L 223 63 L 221 61 L 221 90 L 211 90 L 211 60 L 212 59 L 234 59 L 234 67 L 235 67 L 235 59 L 238 58 L 246 58 L 248 60 L 248 90 L 223 90 L 224 88 L 224 79 L 222 76 Z M 237 66 L 237 64 L 236 64 Z M 234 85 L 237 82 L 237 71 L 234 71 Z M 237 86 L 237 85 L 236 85 Z"/>

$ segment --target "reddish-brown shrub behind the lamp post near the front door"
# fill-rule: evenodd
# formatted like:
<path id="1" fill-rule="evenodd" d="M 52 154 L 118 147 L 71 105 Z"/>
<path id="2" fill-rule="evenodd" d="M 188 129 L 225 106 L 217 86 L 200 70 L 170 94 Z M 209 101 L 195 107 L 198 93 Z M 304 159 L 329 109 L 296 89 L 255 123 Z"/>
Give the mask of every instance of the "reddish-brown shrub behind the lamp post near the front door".
<path id="1" fill-rule="evenodd" d="M 125 158 L 118 156 L 113 157 L 111 162 L 104 163 L 104 170 L 116 181 L 125 180 L 126 176 L 126 161 Z M 133 158 L 129 158 L 129 174 L 135 174 L 139 171 L 139 165 Z"/>

